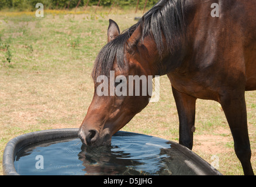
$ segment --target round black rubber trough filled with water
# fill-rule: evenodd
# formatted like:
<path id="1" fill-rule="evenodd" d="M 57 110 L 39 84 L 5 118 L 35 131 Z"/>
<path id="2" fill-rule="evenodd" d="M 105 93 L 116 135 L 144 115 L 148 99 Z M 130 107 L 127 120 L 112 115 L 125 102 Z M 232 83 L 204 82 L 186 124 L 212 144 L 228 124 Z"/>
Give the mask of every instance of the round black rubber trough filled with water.
<path id="1" fill-rule="evenodd" d="M 4 175 L 222 175 L 173 141 L 118 131 L 111 146 L 88 147 L 77 134 L 53 129 L 13 138 L 4 150 Z"/>

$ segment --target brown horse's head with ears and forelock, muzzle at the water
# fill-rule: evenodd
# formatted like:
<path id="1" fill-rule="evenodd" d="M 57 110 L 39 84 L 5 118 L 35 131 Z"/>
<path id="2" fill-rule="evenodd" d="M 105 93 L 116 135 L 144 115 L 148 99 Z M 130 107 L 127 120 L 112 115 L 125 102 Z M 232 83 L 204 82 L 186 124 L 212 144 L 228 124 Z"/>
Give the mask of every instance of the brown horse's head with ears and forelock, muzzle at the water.
<path id="1" fill-rule="evenodd" d="M 129 36 L 120 34 L 119 26 L 109 20 L 108 43 L 99 52 L 92 72 L 94 97 L 78 133 L 88 146 L 109 145 L 112 135 L 149 102 L 151 60 L 141 40 L 142 27 L 143 20 Z"/>

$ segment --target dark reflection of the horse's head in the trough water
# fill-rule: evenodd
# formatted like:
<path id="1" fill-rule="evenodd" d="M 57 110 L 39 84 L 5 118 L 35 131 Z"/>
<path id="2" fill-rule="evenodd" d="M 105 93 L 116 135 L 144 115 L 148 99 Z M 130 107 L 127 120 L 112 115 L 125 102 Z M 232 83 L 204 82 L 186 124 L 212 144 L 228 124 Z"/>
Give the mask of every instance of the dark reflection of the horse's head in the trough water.
<path id="1" fill-rule="evenodd" d="M 149 160 L 133 159 L 132 154 L 124 153 L 120 151 L 117 146 L 108 146 L 101 148 L 92 148 L 82 145 L 81 152 L 78 154 L 79 160 L 83 161 L 84 169 L 87 175 L 159 175 L 167 174 L 171 172 L 165 171 L 164 158 L 157 155 L 155 159 L 158 160 L 158 165 L 151 165 L 151 170 L 156 170 L 155 173 L 151 173 L 150 169 L 146 169 L 143 165 L 146 165 Z M 150 164 L 148 162 L 148 164 Z M 143 171 L 143 168 L 145 168 Z"/>

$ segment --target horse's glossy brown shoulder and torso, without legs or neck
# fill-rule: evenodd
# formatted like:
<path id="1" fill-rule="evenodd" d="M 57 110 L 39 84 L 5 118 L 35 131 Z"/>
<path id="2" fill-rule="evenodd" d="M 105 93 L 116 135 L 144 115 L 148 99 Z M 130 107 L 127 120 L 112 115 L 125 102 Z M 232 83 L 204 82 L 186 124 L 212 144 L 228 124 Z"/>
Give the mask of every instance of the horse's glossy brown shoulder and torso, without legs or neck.
<path id="1" fill-rule="evenodd" d="M 220 18 L 209 16 L 213 1 L 203 3 L 191 15 L 186 46 L 181 48 L 184 59 L 168 73 L 178 91 L 220 102 L 222 91 L 229 87 L 256 89 L 256 5 L 247 1 L 238 6 L 238 2 L 220 1 Z"/>

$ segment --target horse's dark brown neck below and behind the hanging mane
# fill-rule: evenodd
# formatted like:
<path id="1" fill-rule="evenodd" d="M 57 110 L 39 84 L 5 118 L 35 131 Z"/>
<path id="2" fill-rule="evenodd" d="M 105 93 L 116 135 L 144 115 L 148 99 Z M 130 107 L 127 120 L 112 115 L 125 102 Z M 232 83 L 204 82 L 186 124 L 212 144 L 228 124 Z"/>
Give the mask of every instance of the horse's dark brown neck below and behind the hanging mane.
<path id="1" fill-rule="evenodd" d="M 175 42 L 168 44 L 165 39 L 164 34 L 162 33 L 162 44 L 164 51 L 161 54 L 158 53 L 157 45 L 155 44 L 154 39 L 148 34 L 144 38 L 144 45 L 147 48 L 148 55 L 148 64 L 150 65 L 152 75 L 165 75 L 169 72 L 175 71 L 178 67 L 182 66 L 182 63 L 188 58 L 189 46 L 191 45 L 191 29 L 189 25 L 193 22 L 195 12 L 201 6 L 202 2 L 191 0 L 185 1 L 185 10 L 184 11 L 184 30 L 179 34 L 178 37 L 175 37 Z"/>

